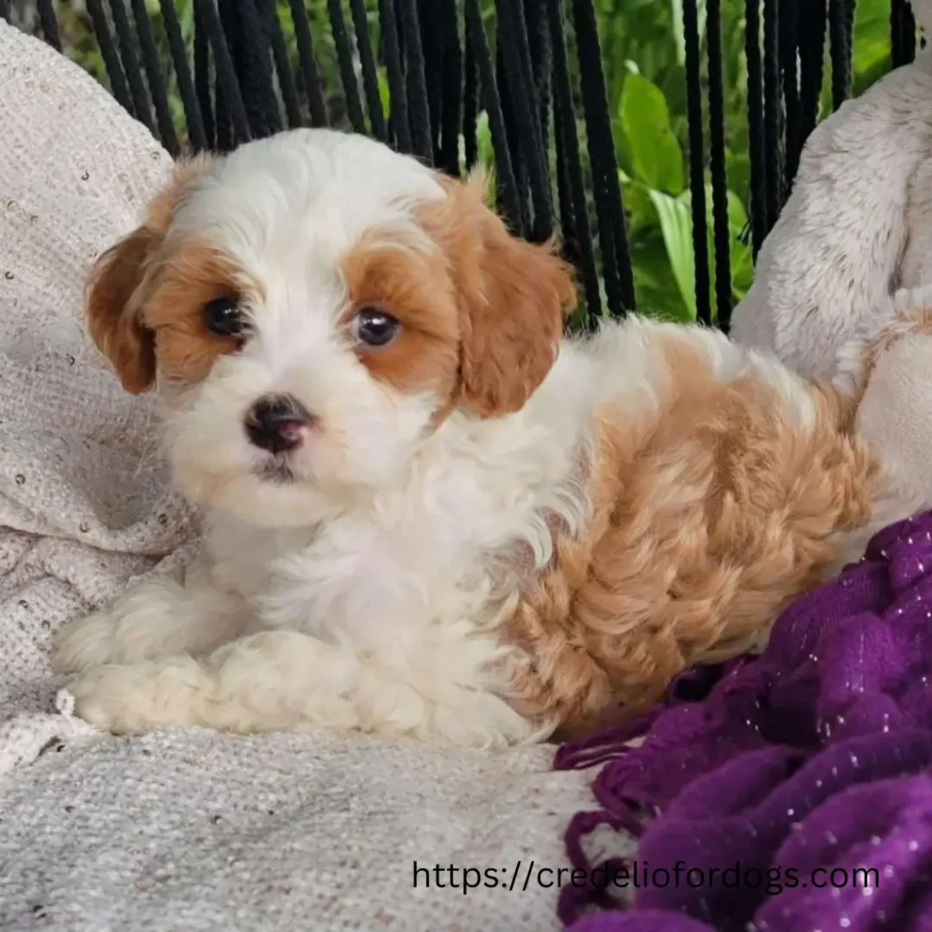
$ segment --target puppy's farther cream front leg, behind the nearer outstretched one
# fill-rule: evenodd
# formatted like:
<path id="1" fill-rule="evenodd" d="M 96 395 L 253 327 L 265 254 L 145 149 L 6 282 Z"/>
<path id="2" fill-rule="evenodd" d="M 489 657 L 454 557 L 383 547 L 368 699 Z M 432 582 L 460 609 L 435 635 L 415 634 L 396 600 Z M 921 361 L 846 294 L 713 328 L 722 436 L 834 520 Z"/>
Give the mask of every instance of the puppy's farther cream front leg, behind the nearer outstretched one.
<path id="1" fill-rule="evenodd" d="M 247 620 L 240 600 L 210 583 L 142 583 L 109 610 L 65 625 L 52 646 L 51 664 L 57 673 L 79 673 L 102 664 L 210 653 L 237 637 Z"/>

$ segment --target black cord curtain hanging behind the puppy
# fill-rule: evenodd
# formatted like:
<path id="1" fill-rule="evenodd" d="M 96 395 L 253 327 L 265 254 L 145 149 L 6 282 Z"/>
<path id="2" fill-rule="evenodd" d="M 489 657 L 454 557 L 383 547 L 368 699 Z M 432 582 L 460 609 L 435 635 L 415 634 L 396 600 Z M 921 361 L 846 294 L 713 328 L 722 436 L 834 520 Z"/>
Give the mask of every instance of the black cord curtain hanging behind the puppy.
<path id="1" fill-rule="evenodd" d="M 697 0 L 683 0 L 696 308 L 699 321 L 727 328 L 733 233 L 721 0 L 706 0 L 705 9 L 700 34 Z M 586 318 L 579 323 L 593 326 L 604 313 L 636 307 L 594 0 L 495 0 L 494 34 L 479 0 L 327 0 L 325 24 L 311 20 L 304 0 L 282 7 L 194 0 L 190 48 L 172 0 L 159 0 L 170 70 L 159 61 L 144 0 L 87 0 L 87 11 L 114 96 L 172 155 L 336 124 L 459 174 L 480 158 L 485 117 L 500 210 L 530 240 L 559 236 L 580 272 Z M 7 0 L 0 16 L 10 18 Z M 831 104 L 851 96 L 854 18 L 855 0 L 745 0 L 755 255 L 816 126 L 827 43 Z M 61 49 L 52 0 L 37 0 L 37 21 Z M 908 0 L 891 0 L 890 35 L 894 66 L 911 62 L 916 25 Z M 337 88 L 322 82 L 323 51 L 336 61 Z M 184 110 L 180 122 L 170 86 Z"/>

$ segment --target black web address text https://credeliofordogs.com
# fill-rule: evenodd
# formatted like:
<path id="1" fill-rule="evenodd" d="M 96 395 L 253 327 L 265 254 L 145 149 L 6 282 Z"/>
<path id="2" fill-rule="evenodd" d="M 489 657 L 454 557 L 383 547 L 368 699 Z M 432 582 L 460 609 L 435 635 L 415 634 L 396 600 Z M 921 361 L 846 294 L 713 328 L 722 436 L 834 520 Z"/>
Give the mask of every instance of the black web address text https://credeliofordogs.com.
<path id="1" fill-rule="evenodd" d="M 691 868 L 677 861 L 672 868 L 651 868 L 647 861 L 634 861 L 625 867 L 550 868 L 531 859 L 508 867 L 464 867 L 456 864 L 424 865 L 414 862 L 415 889 L 470 890 L 551 889 L 565 886 L 600 889 L 644 890 L 651 887 L 692 887 L 724 890 L 762 890 L 775 897 L 797 887 L 843 889 L 880 886 L 877 868 L 816 868 L 808 872 L 796 868 L 742 868 L 740 862 L 727 868 Z"/>

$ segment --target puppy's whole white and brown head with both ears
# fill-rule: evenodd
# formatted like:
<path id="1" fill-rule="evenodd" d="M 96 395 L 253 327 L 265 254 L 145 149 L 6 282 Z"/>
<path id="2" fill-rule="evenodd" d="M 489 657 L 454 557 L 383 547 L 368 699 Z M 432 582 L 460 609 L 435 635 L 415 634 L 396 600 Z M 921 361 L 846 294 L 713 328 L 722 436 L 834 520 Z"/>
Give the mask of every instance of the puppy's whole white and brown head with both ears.
<path id="1" fill-rule="evenodd" d="M 327 130 L 175 172 L 87 303 L 124 387 L 158 384 L 185 494 L 312 524 L 391 487 L 453 410 L 525 404 L 574 288 L 483 194 Z"/>

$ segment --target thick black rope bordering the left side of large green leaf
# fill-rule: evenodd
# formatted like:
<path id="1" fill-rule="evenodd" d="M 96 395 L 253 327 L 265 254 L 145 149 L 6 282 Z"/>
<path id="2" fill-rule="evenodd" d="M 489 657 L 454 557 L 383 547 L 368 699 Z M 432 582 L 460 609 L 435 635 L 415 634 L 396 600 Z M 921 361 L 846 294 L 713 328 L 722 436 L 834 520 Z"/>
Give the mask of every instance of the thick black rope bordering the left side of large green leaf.
<path id="1" fill-rule="evenodd" d="M 579 48 L 583 114 L 592 164 L 605 291 L 610 314 L 621 316 L 635 309 L 635 288 L 593 0 L 573 0 L 573 21 Z"/>

